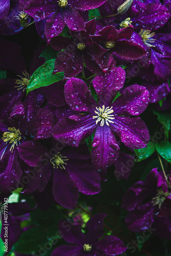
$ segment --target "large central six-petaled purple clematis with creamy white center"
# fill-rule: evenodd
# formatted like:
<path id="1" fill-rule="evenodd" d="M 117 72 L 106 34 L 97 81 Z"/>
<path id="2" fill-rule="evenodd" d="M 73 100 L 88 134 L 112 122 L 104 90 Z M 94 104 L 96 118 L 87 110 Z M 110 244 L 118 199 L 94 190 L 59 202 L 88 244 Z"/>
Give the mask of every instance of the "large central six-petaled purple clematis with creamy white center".
<path id="1" fill-rule="evenodd" d="M 112 165 L 117 159 L 119 146 L 116 135 L 131 148 L 145 147 L 149 141 L 149 131 L 137 117 L 148 105 L 149 92 L 142 86 L 130 86 L 113 102 L 124 81 L 125 71 L 121 68 L 96 75 L 92 84 L 98 103 L 81 79 L 71 78 L 65 84 L 66 102 L 78 114 L 60 120 L 54 126 L 53 136 L 58 141 L 65 139 L 68 145 L 78 146 L 95 132 L 91 159 L 99 169 Z"/>

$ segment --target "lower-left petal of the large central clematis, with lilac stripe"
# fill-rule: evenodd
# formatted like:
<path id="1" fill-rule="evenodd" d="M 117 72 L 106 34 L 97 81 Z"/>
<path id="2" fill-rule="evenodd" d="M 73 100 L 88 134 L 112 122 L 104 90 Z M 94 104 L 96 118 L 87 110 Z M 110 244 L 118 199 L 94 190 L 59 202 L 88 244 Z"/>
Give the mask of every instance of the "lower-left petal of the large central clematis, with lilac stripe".
<path id="1" fill-rule="evenodd" d="M 59 142 L 63 142 L 70 146 L 79 146 L 79 143 L 90 136 L 95 128 L 96 123 L 94 119 L 92 119 L 92 115 L 74 115 L 60 120 L 54 126 L 53 136 Z"/>

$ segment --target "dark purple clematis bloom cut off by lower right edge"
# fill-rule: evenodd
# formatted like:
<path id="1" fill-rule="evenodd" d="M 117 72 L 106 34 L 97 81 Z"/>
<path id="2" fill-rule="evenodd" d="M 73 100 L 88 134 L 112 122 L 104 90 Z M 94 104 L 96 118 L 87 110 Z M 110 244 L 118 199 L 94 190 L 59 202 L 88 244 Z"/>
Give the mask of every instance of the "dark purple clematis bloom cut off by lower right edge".
<path id="1" fill-rule="evenodd" d="M 171 239 L 170 181 L 157 168 L 151 170 L 145 181 L 130 187 L 123 198 L 122 207 L 129 210 L 126 225 L 133 232 L 152 227 L 156 236 Z"/>

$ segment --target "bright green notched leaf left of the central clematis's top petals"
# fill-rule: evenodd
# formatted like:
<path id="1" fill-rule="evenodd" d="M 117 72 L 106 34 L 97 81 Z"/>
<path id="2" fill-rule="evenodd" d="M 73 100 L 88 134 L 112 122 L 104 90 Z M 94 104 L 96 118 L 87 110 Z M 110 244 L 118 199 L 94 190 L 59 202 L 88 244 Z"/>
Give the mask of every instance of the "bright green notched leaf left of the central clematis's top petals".
<path id="1" fill-rule="evenodd" d="M 27 86 L 27 94 L 37 88 L 49 86 L 50 84 L 63 79 L 63 72 L 58 72 L 57 74 L 52 75 L 54 65 L 55 59 L 47 60 L 33 73 Z"/>

